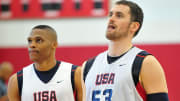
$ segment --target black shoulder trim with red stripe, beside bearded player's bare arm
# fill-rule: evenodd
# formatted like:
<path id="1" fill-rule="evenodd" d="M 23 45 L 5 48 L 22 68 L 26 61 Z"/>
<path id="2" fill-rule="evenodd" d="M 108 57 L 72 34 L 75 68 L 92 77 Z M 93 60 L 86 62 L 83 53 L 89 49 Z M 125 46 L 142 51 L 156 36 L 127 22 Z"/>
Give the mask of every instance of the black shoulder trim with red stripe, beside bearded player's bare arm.
<path id="1" fill-rule="evenodd" d="M 141 51 L 140 53 L 138 53 L 136 55 L 136 58 L 133 62 L 132 75 L 133 75 L 133 80 L 134 80 L 135 86 L 139 82 L 139 74 L 141 71 L 142 62 L 143 62 L 145 56 L 147 56 L 147 55 L 151 55 L 151 54 L 149 54 L 146 51 Z"/>

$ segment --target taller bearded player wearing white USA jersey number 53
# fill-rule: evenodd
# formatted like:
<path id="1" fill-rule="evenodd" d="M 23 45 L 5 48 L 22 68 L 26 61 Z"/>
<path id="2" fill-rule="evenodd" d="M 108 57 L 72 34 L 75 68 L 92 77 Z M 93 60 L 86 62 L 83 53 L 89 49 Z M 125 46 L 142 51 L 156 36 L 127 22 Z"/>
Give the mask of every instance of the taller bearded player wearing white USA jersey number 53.
<path id="1" fill-rule="evenodd" d="M 132 44 L 143 11 L 131 1 L 117 1 L 109 13 L 108 50 L 84 63 L 86 101 L 168 101 L 160 63 Z"/>

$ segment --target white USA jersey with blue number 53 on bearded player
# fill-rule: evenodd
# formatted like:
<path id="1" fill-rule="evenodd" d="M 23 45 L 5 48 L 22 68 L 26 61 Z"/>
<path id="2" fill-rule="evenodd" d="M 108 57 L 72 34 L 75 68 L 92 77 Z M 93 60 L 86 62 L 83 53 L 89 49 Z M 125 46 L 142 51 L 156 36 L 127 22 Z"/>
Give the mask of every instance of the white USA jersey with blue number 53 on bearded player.
<path id="1" fill-rule="evenodd" d="M 85 78 L 86 101 L 144 101 L 132 76 L 134 60 L 142 51 L 133 47 L 111 64 L 107 51 L 96 56 Z"/>

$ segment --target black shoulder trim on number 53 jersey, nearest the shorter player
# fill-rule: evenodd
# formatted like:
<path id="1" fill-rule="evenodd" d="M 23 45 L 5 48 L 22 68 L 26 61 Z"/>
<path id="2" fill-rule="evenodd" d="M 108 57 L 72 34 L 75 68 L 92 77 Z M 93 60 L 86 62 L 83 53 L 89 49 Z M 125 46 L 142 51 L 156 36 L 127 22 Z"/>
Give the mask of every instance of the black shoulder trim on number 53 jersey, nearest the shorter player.
<path id="1" fill-rule="evenodd" d="M 86 62 L 86 64 L 85 64 L 84 73 L 83 73 L 84 82 L 85 82 L 85 80 L 86 80 L 87 73 L 89 72 L 92 64 L 94 63 L 95 58 L 96 58 L 96 57 L 89 59 L 89 60 Z"/>

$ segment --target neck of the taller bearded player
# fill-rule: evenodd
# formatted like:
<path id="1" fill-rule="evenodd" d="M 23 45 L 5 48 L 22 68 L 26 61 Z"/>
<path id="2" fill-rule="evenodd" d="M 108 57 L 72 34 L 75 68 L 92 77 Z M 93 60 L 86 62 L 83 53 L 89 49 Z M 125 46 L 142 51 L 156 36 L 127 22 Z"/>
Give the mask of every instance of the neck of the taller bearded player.
<path id="1" fill-rule="evenodd" d="M 120 56 L 127 52 L 133 46 L 132 42 L 129 40 L 118 40 L 110 41 L 108 47 L 109 56 Z"/>

